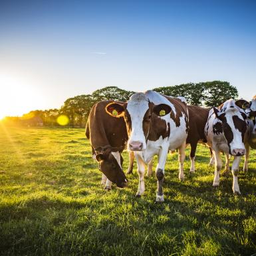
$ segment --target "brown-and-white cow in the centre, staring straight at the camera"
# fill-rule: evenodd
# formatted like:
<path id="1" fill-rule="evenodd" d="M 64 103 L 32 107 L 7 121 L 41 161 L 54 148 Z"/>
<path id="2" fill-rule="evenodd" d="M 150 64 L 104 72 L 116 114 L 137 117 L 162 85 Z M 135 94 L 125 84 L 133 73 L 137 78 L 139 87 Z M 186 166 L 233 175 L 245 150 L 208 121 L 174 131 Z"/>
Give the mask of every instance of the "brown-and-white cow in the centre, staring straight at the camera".
<path id="1" fill-rule="evenodd" d="M 156 201 L 164 201 L 164 167 L 169 150 L 179 150 L 180 180 L 184 179 L 184 159 L 188 136 L 188 108 L 184 98 L 173 98 L 148 90 L 132 94 L 125 104 L 110 103 L 106 112 L 124 116 L 128 131 L 128 149 L 135 151 L 139 185 L 137 197 L 145 190 L 144 164 L 158 155 Z"/>

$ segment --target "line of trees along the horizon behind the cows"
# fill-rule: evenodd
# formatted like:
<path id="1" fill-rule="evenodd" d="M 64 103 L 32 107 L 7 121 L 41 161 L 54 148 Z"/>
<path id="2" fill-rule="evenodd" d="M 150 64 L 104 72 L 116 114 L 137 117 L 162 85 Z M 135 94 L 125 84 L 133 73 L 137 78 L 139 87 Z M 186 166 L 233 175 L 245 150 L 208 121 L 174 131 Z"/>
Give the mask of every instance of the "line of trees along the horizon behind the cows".
<path id="1" fill-rule="evenodd" d="M 229 98 L 238 97 L 235 86 L 231 86 L 229 82 L 217 80 L 164 86 L 153 90 L 170 96 L 184 96 L 188 104 L 197 106 L 219 106 Z M 132 91 L 122 90 L 116 86 L 107 86 L 95 90 L 92 94 L 68 98 L 60 109 L 33 110 L 21 117 L 6 117 L 3 122 L 11 126 L 60 126 L 59 116 L 66 116 L 69 120 L 68 126 L 84 127 L 90 109 L 96 102 L 100 100 L 126 101 L 132 94 L 134 94 Z"/>

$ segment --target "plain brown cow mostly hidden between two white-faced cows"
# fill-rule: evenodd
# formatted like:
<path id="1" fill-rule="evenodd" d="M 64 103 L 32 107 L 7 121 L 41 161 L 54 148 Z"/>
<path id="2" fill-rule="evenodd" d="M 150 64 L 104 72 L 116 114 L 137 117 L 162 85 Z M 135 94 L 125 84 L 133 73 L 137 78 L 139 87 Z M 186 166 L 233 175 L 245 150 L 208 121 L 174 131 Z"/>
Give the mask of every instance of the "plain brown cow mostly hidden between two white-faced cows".
<path id="1" fill-rule="evenodd" d="M 201 106 L 188 105 L 189 131 L 187 144 L 190 144 L 190 172 L 195 172 L 195 150 L 198 142 L 206 142 L 204 128 L 207 122 L 210 108 L 202 108 Z M 211 151 L 211 148 L 210 148 Z"/>

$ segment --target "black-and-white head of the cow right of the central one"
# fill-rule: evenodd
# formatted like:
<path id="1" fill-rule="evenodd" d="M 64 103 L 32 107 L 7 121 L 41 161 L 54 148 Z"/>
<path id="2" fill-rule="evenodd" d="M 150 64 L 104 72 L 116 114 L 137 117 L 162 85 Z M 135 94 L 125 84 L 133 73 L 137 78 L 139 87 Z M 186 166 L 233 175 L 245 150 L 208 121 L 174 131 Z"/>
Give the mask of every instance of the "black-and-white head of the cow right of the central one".
<path id="1" fill-rule="evenodd" d="M 213 132 L 223 132 L 227 144 L 229 146 L 229 154 L 233 156 L 243 156 L 245 154 L 244 137 L 247 130 L 247 116 L 244 112 L 240 112 L 238 108 L 230 105 L 219 111 L 213 107 L 215 116 L 221 121 L 213 126 Z M 217 128 L 218 127 L 218 128 Z"/>

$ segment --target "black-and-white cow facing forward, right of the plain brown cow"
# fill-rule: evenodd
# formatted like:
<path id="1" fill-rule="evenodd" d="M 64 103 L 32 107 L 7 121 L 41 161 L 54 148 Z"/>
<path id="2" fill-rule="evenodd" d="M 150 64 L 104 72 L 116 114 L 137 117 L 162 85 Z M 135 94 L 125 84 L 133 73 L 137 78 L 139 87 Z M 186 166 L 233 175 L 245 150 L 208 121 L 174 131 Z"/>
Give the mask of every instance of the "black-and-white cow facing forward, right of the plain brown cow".
<path id="1" fill-rule="evenodd" d="M 234 156 L 232 165 L 233 192 L 240 194 L 238 185 L 239 163 L 245 154 L 247 140 L 247 116 L 235 104 L 235 100 L 227 100 L 219 109 L 213 107 L 205 125 L 207 144 L 212 148 L 215 158 L 213 187 L 219 186 L 219 172 L 222 167 L 220 152 L 226 155 L 226 170 L 229 169 L 229 154 Z"/>

